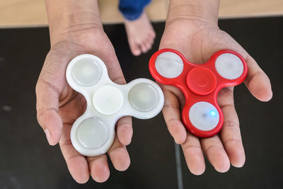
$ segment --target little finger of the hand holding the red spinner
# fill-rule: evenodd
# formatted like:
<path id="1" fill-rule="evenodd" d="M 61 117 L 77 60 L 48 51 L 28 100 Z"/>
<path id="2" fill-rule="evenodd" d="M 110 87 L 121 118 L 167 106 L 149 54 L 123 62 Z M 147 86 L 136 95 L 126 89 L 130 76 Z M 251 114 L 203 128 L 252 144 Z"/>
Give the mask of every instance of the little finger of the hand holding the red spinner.
<path id="1" fill-rule="evenodd" d="M 180 118 L 180 105 L 175 94 L 168 90 L 163 90 L 164 107 L 162 110 L 164 120 L 168 130 L 177 144 L 183 144 L 187 137 L 187 131 Z"/>

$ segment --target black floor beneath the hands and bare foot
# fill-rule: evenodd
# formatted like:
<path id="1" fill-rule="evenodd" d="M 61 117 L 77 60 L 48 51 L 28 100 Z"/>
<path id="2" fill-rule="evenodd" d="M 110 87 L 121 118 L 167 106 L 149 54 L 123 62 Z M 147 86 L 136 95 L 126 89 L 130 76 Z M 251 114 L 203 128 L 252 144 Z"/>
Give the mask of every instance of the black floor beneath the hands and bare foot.
<path id="1" fill-rule="evenodd" d="M 246 164 L 217 173 L 207 164 L 202 176 L 193 176 L 183 154 L 166 130 L 162 115 L 133 119 L 129 145 L 132 164 L 115 171 L 105 183 L 77 184 L 69 175 L 59 147 L 50 147 L 36 121 L 35 83 L 47 54 L 47 28 L 0 30 L 0 188 L 283 188 L 283 18 L 225 20 L 220 28 L 233 36 L 260 64 L 272 81 L 269 103 L 255 100 L 243 86 L 235 101 L 241 121 Z M 122 25 L 107 25 L 127 81 L 151 78 L 149 57 L 158 49 L 164 23 L 154 24 L 153 50 L 133 57 Z M 122 36 L 121 36 L 122 35 Z M 178 146 L 177 146 L 178 150 Z M 176 166 L 180 155 L 181 166 Z M 182 182 L 183 180 L 183 182 Z"/>

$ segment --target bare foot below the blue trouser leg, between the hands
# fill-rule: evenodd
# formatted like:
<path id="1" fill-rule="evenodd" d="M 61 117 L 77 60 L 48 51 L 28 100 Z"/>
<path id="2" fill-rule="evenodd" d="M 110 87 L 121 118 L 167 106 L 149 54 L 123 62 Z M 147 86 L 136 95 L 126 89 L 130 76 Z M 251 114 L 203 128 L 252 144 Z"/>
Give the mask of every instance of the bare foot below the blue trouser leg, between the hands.
<path id="1" fill-rule="evenodd" d="M 151 49 L 155 32 L 145 12 L 137 20 L 127 21 L 125 19 L 125 28 L 133 55 L 139 56 L 141 52 L 147 52 Z"/>

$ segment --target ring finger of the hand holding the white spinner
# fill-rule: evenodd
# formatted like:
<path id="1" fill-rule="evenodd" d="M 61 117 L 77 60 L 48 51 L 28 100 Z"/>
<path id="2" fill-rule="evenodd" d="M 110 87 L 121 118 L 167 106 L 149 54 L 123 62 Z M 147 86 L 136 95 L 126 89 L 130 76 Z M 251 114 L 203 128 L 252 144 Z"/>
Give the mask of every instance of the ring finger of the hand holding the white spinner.
<path id="1" fill-rule="evenodd" d="M 113 166 L 118 171 L 125 171 L 129 167 L 129 154 L 126 147 L 119 142 L 117 137 L 115 137 L 112 147 L 108 151 L 108 155 L 110 156 Z"/>

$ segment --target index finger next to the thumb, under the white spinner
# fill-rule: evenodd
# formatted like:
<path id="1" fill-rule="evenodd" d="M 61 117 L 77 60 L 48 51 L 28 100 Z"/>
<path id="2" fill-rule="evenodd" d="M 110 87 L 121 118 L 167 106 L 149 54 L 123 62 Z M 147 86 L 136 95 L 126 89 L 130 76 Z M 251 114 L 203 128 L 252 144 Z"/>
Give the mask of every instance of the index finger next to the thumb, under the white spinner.
<path id="1" fill-rule="evenodd" d="M 71 144 L 71 125 L 73 125 L 73 123 L 64 123 L 59 145 L 71 176 L 77 183 L 86 183 L 89 178 L 88 163 L 86 158 L 79 154 Z"/>

